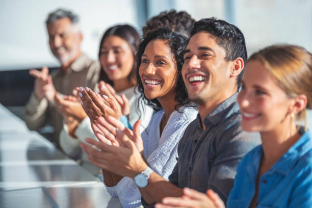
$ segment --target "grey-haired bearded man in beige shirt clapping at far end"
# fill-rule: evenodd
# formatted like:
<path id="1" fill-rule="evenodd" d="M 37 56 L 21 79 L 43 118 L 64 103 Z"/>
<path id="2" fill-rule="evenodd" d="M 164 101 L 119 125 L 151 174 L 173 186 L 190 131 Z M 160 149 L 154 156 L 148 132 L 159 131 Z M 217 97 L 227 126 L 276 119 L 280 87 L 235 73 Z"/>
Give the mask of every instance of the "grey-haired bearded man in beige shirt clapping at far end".
<path id="1" fill-rule="evenodd" d="M 59 133 L 63 125 L 63 116 L 58 113 L 55 95 L 70 95 L 76 86 L 88 86 L 94 89 L 99 64 L 81 51 L 82 33 L 78 26 L 78 17 L 71 11 L 58 9 L 48 15 L 46 28 L 49 46 L 61 66 L 53 74 L 48 68 L 41 71 L 31 69 L 35 85 L 28 103 L 25 105 L 23 120 L 31 130 L 37 130 L 50 123 L 54 127 L 54 138 L 59 146 Z M 76 108 L 81 109 L 77 104 Z M 68 119 L 71 119 L 70 116 Z"/>

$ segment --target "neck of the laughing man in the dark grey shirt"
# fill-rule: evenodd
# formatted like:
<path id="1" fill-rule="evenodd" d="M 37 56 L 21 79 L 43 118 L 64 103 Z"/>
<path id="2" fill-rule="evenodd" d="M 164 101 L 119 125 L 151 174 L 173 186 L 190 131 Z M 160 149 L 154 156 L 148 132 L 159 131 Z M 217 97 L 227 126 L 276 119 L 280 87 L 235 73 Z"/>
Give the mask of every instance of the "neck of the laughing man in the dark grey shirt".
<path id="1" fill-rule="evenodd" d="M 201 105 L 198 106 L 198 112 L 200 115 L 200 120 L 201 120 L 201 126 L 203 129 L 205 129 L 205 125 L 203 123 L 203 120 L 205 117 L 213 112 L 224 100 L 235 94 L 235 92 L 232 92 L 232 94 L 229 94 L 227 96 L 223 96 L 222 98 L 215 98 L 215 99 L 210 99 L 205 103 L 202 103 Z"/>

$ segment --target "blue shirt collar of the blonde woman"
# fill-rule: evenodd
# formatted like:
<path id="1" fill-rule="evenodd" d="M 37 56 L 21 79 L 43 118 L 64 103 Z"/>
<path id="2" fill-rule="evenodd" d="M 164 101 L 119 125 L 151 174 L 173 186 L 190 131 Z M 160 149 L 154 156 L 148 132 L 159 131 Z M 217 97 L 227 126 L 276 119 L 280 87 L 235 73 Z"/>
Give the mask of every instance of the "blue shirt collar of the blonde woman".
<path id="1" fill-rule="evenodd" d="M 301 127 L 299 133 L 302 134 L 299 140 L 273 165 L 270 171 L 277 171 L 280 174 L 287 175 L 300 157 L 312 149 L 309 129 L 304 132 L 304 128 Z"/>

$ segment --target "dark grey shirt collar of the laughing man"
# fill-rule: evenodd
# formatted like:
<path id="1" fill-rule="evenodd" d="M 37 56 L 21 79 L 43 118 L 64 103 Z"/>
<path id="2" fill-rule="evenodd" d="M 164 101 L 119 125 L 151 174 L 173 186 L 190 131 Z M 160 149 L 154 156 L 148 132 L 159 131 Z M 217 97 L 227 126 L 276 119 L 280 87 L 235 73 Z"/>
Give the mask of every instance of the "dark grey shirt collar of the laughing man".
<path id="1" fill-rule="evenodd" d="M 210 123 L 216 125 L 233 113 L 239 112 L 239 106 L 236 102 L 237 95 L 238 92 L 224 100 L 213 112 L 208 114 L 204 119 L 204 125 L 207 126 Z"/>

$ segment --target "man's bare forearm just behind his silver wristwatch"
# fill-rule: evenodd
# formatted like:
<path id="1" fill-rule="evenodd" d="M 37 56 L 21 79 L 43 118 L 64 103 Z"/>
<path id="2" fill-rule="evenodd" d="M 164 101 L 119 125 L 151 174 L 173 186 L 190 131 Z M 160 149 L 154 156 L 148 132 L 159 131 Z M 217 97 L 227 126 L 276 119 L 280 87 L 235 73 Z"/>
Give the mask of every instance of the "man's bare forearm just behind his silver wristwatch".
<path id="1" fill-rule="evenodd" d="M 148 185 L 141 188 L 140 192 L 147 204 L 161 202 L 167 196 L 180 197 L 183 195 L 183 189 L 174 186 L 155 172 L 150 175 Z"/>

